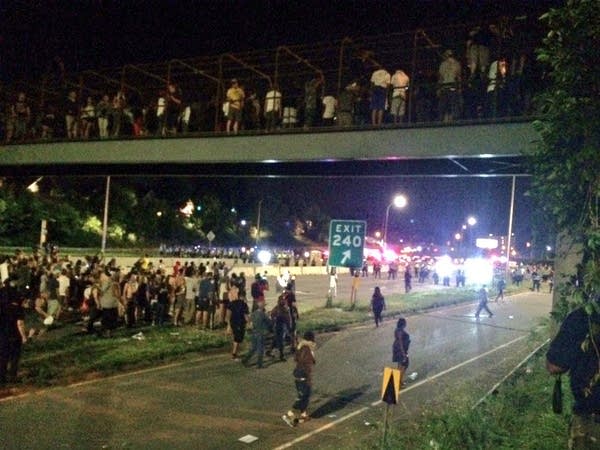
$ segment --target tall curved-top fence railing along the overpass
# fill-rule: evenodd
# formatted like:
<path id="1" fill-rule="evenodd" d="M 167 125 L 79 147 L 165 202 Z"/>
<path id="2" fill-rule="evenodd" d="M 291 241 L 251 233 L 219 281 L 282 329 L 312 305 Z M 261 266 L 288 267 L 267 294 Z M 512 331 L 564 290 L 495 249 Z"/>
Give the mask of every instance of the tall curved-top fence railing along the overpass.
<path id="1" fill-rule="evenodd" d="M 370 77 L 380 68 L 390 75 L 401 69 L 410 80 L 403 92 L 403 113 L 396 117 L 390 114 L 390 106 L 395 104 L 392 97 L 397 91 L 389 90 L 384 123 L 404 126 L 523 117 L 531 113 L 531 98 L 541 79 L 533 54 L 541 30 L 534 19 L 503 17 L 483 25 L 346 37 L 23 80 L 11 86 L 0 108 L 4 112 L 0 138 L 4 143 L 65 139 L 67 113 L 74 115 L 79 125 L 72 133 L 75 139 L 99 138 L 98 117 L 105 117 L 108 124 L 102 137 L 219 133 L 227 120 L 224 105 L 233 78 L 246 92 L 241 132 L 264 129 L 265 94 L 274 88 L 281 93 L 275 130 L 309 128 L 304 110 L 310 80 L 318 80 L 319 117 L 323 98 L 334 98 L 338 107 L 333 120 L 317 120 L 310 129 L 328 125 L 370 127 Z M 478 26 L 481 28 L 476 32 Z M 460 81 L 452 86 L 440 85 L 438 76 L 447 50 L 453 52 L 462 69 Z M 169 101 L 169 85 L 181 104 Z M 26 94 L 25 111 L 18 105 L 20 92 Z M 75 112 L 65 101 L 69 93 L 76 98 Z M 100 108 L 105 95 L 109 104 Z M 89 97 L 93 108 L 86 108 Z M 342 113 L 346 114 L 344 120 Z M 167 114 L 175 114 L 175 126 L 166 126 Z"/>

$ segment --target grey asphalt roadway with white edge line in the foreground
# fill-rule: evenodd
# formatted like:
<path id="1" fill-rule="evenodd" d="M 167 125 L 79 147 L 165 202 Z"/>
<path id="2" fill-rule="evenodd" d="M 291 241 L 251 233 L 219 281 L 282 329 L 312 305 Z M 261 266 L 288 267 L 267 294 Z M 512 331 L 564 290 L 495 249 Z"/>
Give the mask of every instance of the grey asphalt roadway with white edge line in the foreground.
<path id="1" fill-rule="evenodd" d="M 408 317 L 408 372 L 417 375 L 391 426 L 443 408 L 454 387 L 483 395 L 537 344 L 530 330 L 550 305 L 550 295 L 527 293 L 492 303 L 491 319 L 475 320 L 474 304 Z M 394 325 L 317 337 L 313 419 L 296 428 L 281 420 L 295 398 L 291 358 L 258 370 L 213 355 L 3 399 L 0 448 L 364 448 L 381 436 Z M 239 441 L 247 435 L 257 440 Z"/>

